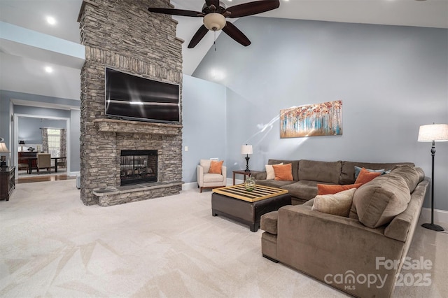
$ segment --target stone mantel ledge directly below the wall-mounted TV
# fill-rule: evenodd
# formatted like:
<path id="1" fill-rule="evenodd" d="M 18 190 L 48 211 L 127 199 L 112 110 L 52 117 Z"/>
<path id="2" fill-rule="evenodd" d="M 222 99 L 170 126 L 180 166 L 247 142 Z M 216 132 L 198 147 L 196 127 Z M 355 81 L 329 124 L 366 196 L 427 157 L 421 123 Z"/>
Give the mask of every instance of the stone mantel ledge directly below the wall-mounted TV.
<path id="1" fill-rule="evenodd" d="M 98 132 L 125 132 L 130 134 L 165 134 L 177 135 L 182 129 L 182 125 L 166 123 L 141 122 L 115 119 L 95 119 L 93 120 Z"/>

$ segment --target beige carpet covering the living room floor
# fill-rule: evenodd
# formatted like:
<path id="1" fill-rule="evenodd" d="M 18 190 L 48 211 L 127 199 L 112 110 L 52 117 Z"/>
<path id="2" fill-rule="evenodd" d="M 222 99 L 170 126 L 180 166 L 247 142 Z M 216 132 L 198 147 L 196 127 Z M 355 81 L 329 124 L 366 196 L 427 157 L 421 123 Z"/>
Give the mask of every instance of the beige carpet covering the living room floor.
<path id="1" fill-rule="evenodd" d="M 211 216 L 211 192 L 84 206 L 75 180 L 17 185 L 0 201 L 1 297 L 346 297 L 262 257 L 261 230 Z M 433 262 L 447 297 L 448 234 L 419 227 L 409 255 Z"/>

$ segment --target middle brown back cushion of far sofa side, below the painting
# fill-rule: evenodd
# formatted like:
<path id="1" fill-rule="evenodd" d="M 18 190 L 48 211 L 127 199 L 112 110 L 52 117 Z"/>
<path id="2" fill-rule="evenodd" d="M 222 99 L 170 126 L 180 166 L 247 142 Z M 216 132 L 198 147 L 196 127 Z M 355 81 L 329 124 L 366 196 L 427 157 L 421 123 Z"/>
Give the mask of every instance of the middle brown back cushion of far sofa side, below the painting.
<path id="1" fill-rule="evenodd" d="M 339 184 L 340 174 L 341 161 L 318 162 L 315 160 L 301 159 L 299 162 L 300 180 L 311 180 Z"/>

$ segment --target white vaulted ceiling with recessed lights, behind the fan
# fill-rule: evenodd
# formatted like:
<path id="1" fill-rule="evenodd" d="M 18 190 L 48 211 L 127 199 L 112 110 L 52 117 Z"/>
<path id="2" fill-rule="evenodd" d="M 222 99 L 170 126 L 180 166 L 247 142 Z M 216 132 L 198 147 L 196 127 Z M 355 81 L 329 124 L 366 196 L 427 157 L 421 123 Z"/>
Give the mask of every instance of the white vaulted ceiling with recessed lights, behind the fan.
<path id="1" fill-rule="evenodd" d="M 234 6 L 248 1 L 222 2 Z M 82 0 L 0 0 L 0 21 L 3 22 L 0 31 L 1 90 L 79 99 L 82 59 L 57 57 L 51 50 L 10 41 L 4 30 L 8 23 L 79 44 L 76 20 L 81 3 Z M 200 11 L 204 0 L 172 3 L 176 8 Z M 49 15 L 55 17 L 54 25 L 46 22 Z M 280 8 L 260 16 L 448 28 L 448 0 L 281 0 Z M 151 17 L 149 13 L 148 17 Z M 179 21 L 177 36 L 186 41 L 183 43 L 183 73 L 190 75 L 213 44 L 214 34 L 207 34 L 195 48 L 187 49 L 190 38 L 202 25 L 202 18 L 174 18 Z M 250 38 L 250 32 L 244 33 Z M 21 37 L 27 38 L 27 34 L 24 35 Z M 45 73 L 45 66 L 52 66 L 53 73 Z"/>

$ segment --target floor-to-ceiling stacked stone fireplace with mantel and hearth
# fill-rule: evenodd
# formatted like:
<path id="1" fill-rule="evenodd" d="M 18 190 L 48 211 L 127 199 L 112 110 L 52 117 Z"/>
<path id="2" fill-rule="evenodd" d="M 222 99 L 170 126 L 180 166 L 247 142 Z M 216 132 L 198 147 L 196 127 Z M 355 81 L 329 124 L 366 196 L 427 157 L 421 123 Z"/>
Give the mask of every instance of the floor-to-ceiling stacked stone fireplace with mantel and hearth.
<path id="1" fill-rule="evenodd" d="M 169 0 L 89 0 L 80 10 L 80 197 L 86 205 L 165 197 L 182 188 L 182 115 L 176 124 L 105 115 L 106 67 L 182 87 L 177 22 L 148 13 L 149 6 L 168 7 Z"/>

